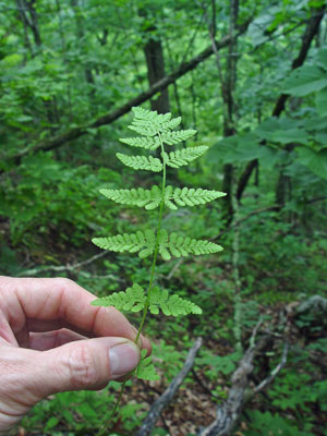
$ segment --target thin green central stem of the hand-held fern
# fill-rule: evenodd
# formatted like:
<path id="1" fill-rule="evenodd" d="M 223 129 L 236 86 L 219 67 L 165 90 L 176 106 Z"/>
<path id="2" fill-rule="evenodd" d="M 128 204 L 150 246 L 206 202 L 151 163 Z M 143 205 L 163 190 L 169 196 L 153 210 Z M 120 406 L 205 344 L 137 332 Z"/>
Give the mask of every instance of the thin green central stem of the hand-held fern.
<path id="1" fill-rule="evenodd" d="M 160 208 L 159 208 L 159 217 L 158 217 L 158 226 L 157 226 L 157 238 L 156 238 L 156 245 L 155 245 L 155 252 L 154 252 L 154 257 L 153 257 L 153 264 L 152 264 L 152 271 L 150 271 L 150 278 L 149 278 L 149 283 L 148 283 L 148 289 L 147 289 L 147 294 L 146 294 L 146 301 L 143 310 L 143 316 L 142 320 L 138 327 L 138 331 L 135 338 L 135 343 L 138 342 L 141 332 L 143 330 L 143 326 L 145 323 L 146 314 L 148 311 L 148 305 L 149 305 L 149 299 L 152 291 L 154 289 L 154 277 L 155 277 L 155 268 L 156 268 L 156 262 L 157 262 L 157 256 L 158 256 L 158 251 L 159 251 L 159 233 L 161 229 L 161 220 L 162 220 L 162 213 L 164 213 L 164 205 L 165 205 L 165 187 L 166 187 L 166 159 L 165 159 L 165 148 L 164 148 L 164 143 L 160 133 L 158 132 L 159 141 L 160 141 L 160 147 L 161 147 L 161 155 L 162 155 L 162 187 L 161 187 L 161 203 L 160 203 Z"/>

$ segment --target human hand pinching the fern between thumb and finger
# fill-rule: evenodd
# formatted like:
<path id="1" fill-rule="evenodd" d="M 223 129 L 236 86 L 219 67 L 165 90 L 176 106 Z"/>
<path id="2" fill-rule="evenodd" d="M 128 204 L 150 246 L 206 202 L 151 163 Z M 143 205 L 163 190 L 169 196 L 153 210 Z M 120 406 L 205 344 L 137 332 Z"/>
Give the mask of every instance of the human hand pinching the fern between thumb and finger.
<path id="1" fill-rule="evenodd" d="M 0 277 L 0 433 L 43 398 L 101 389 L 135 368 L 146 338 L 69 279 Z M 88 339 L 89 338 L 89 339 Z"/>

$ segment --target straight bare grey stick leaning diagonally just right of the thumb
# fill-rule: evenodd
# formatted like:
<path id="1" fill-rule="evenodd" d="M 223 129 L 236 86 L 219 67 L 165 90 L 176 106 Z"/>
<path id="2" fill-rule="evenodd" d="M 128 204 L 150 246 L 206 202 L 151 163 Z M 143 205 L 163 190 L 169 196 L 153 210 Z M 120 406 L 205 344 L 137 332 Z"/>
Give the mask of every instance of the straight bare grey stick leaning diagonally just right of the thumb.
<path id="1" fill-rule="evenodd" d="M 160 413 L 162 410 L 170 403 L 172 397 L 174 396 L 175 391 L 180 388 L 184 378 L 190 373 L 196 353 L 198 352 L 202 346 L 202 338 L 197 338 L 190 349 L 187 358 L 185 360 L 184 366 L 179 372 L 179 374 L 174 377 L 168 388 L 165 390 L 161 397 L 159 397 L 154 404 L 152 405 L 146 419 L 144 420 L 142 426 L 140 427 L 138 432 L 135 436 L 149 436 L 152 433 L 153 427 L 156 425 L 156 422 L 159 419 Z"/>

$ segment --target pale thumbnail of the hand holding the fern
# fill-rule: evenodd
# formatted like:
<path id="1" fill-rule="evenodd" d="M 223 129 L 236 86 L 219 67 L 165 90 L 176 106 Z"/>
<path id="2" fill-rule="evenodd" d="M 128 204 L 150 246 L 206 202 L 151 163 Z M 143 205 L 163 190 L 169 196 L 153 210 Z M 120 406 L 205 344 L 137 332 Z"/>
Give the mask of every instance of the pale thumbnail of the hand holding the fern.
<path id="1" fill-rule="evenodd" d="M 109 350 L 112 378 L 120 378 L 130 373 L 140 362 L 140 349 L 134 343 L 120 343 Z"/>

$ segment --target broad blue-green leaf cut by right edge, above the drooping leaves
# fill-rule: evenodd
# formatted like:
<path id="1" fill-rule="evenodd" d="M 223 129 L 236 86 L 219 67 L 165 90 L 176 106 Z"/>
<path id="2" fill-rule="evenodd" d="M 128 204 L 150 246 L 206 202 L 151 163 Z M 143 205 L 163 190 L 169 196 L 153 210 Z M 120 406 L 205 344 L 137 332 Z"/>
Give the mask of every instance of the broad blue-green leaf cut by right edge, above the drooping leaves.
<path id="1" fill-rule="evenodd" d="M 302 97 L 327 87 L 326 72 L 316 65 L 294 70 L 284 81 L 283 93 Z"/>

